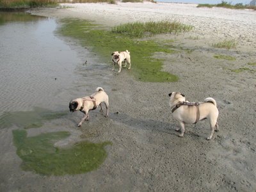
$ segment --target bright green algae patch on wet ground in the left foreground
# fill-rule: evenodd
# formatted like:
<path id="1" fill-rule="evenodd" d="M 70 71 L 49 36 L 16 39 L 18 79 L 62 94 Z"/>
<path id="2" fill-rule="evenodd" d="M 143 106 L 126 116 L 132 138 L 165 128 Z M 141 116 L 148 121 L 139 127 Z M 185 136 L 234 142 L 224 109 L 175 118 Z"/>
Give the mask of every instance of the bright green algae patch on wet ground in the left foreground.
<path id="1" fill-rule="evenodd" d="M 105 147 L 111 141 L 82 141 L 69 148 L 54 147 L 54 143 L 70 136 L 69 132 L 49 132 L 27 137 L 26 130 L 13 130 L 13 143 L 22 159 L 20 167 L 40 175 L 76 175 L 96 170 L 108 156 Z M 55 141 L 55 142 L 54 142 Z"/>

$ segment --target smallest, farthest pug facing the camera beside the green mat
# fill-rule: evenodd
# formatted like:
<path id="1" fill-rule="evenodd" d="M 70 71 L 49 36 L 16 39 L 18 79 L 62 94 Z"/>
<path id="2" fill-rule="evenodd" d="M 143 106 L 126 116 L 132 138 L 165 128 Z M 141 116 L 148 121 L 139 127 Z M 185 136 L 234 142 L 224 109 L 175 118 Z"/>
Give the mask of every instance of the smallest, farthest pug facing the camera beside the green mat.
<path id="1" fill-rule="evenodd" d="M 115 70 L 115 65 L 118 64 L 119 65 L 118 73 L 119 73 L 122 68 L 122 62 L 125 63 L 124 68 L 126 67 L 126 64 L 127 64 L 126 61 L 129 63 L 128 69 L 131 68 L 131 56 L 128 50 L 122 51 L 122 52 L 118 52 L 118 51 L 112 52 L 111 56 L 112 56 L 112 61 L 114 63 L 112 70 Z"/>

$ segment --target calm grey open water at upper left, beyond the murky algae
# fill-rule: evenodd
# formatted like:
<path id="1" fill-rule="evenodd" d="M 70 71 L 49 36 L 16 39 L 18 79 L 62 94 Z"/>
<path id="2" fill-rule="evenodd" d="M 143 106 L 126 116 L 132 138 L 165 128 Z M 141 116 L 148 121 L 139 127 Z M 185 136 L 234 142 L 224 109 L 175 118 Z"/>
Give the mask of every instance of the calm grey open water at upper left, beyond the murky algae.
<path id="1" fill-rule="evenodd" d="M 54 36 L 56 26 L 47 17 L 0 12 L 0 115 L 34 107 L 68 110 L 63 100 L 81 59 Z"/>

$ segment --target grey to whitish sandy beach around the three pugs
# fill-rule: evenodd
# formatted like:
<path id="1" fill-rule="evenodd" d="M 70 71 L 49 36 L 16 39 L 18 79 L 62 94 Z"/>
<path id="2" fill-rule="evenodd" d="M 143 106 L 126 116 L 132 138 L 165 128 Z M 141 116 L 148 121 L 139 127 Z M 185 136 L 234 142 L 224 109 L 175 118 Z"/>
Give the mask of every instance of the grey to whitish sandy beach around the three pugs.
<path id="1" fill-rule="evenodd" d="M 176 83 L 143 83 L 127 69 L 111 71 L 109 61 L 99 68 L 99 76 L 89 74 L 77 83 L 72 97 L 84 95 L 79 85 L 102 86 L 109 95 L 109 117 L 92 111 L 91 120 L 76 127 L 82 114 L 56 120 L 71 131 L 72 138 L 92 142 L 112 141 L 108 157 L 98 170 L 80 175 L 44 177 L 15 169 L 3 180 L 6 191 L 255 191 L 256 190 L 256 12 L 224 8 L 196 8 L 197 4 L 120 3 L 61 4 L 72 8 L 38 8 L 34 15 L 89 19 L 107 27 L 135 21 L 177 20 L 194 26 L 182 35 L 157 35 L 150 40 L 175 40 L 183 51 L 154 56 L 164 60 L 163 70 L 179 76 Z M 62 38 L 62 37 L 61 37 Z M 237 41 L 236 49 L 212 47 L 225 39 Z M 76 40 L 64 38 L 79 52 Z M 187 52 L 186 50 L 193 50 Z M 116 51 L 116 50 L 113 50 Z M 79 53 L 77 53 L 79 54 Z M 131 61 L 132 54 L 131 52 Z M 213 56 L 232 56 L 236 60 Z M 88 58 L 86 60 L 94 60 Z M 93 67 L 93 66 L 91 66 Z M 229 69 L 228 69 L 229 68 Z M 232 70 L 239 70 L 234 72 Z M 232 69 L 232 70 L 230 70 Z M 79 72 L 80 74 L 83 72 Z M 90 81 L 90 78 L 92 81 Z M 93 79 L 94 78 L 94 79 Z M 90 90 L 93 93 L 94 90 Z M 217 101 L 219 132 L 210 141 L 209 122 L 186 125 L 183 138 L 176 132 L 168 93 L 181 92 L 186 100 L 206 97 Z M 90 94 L 86 92 L 86 94 Z M 73 98 L 76 99 L 76 98 Z M 68 102 L 70 100 L 64 100 Z M 97 109 L 98 110 L 98 109 Z M 117 113 L 118 112 L 118 113 Z M 47 127 L 47 124 L 45 125 Z M 53 128 L 49 128 L 51 130 Z M 61 126 L 56 129 L 61 131 Z M 33 135 L 33 130 L 29 133 Z M 57 143 L 56 145 L 63 145 Z M 15 147 L 11 146 L 15 151 Z M 13 158 L 15 154 L 12 155 Z M 17 158 L 17 157 L 15 157 Z M 13 169 L 14 169 L 13 168 Z M 7 168 L 6 172 L 8 172 Z M 19 179 L 17 179 L 19 175 Z"/>

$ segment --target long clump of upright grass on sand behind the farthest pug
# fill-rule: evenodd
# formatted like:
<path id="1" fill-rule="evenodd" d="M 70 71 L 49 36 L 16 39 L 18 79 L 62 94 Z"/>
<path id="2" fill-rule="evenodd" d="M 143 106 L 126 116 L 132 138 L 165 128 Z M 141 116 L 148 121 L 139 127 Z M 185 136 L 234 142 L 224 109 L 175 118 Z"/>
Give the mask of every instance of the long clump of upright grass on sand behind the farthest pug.
<path id="1" fill-rule="evenodd" d="M 154 36 L 161 33 L 173 33 L 179 35 L 193 29 L 193 26 L 187 26 L 180 22 L 159 21 L 159 22 L 132 22 L 120 24 L 112 28 L 113 33 L 122 33 L 134 37 Z"/>

